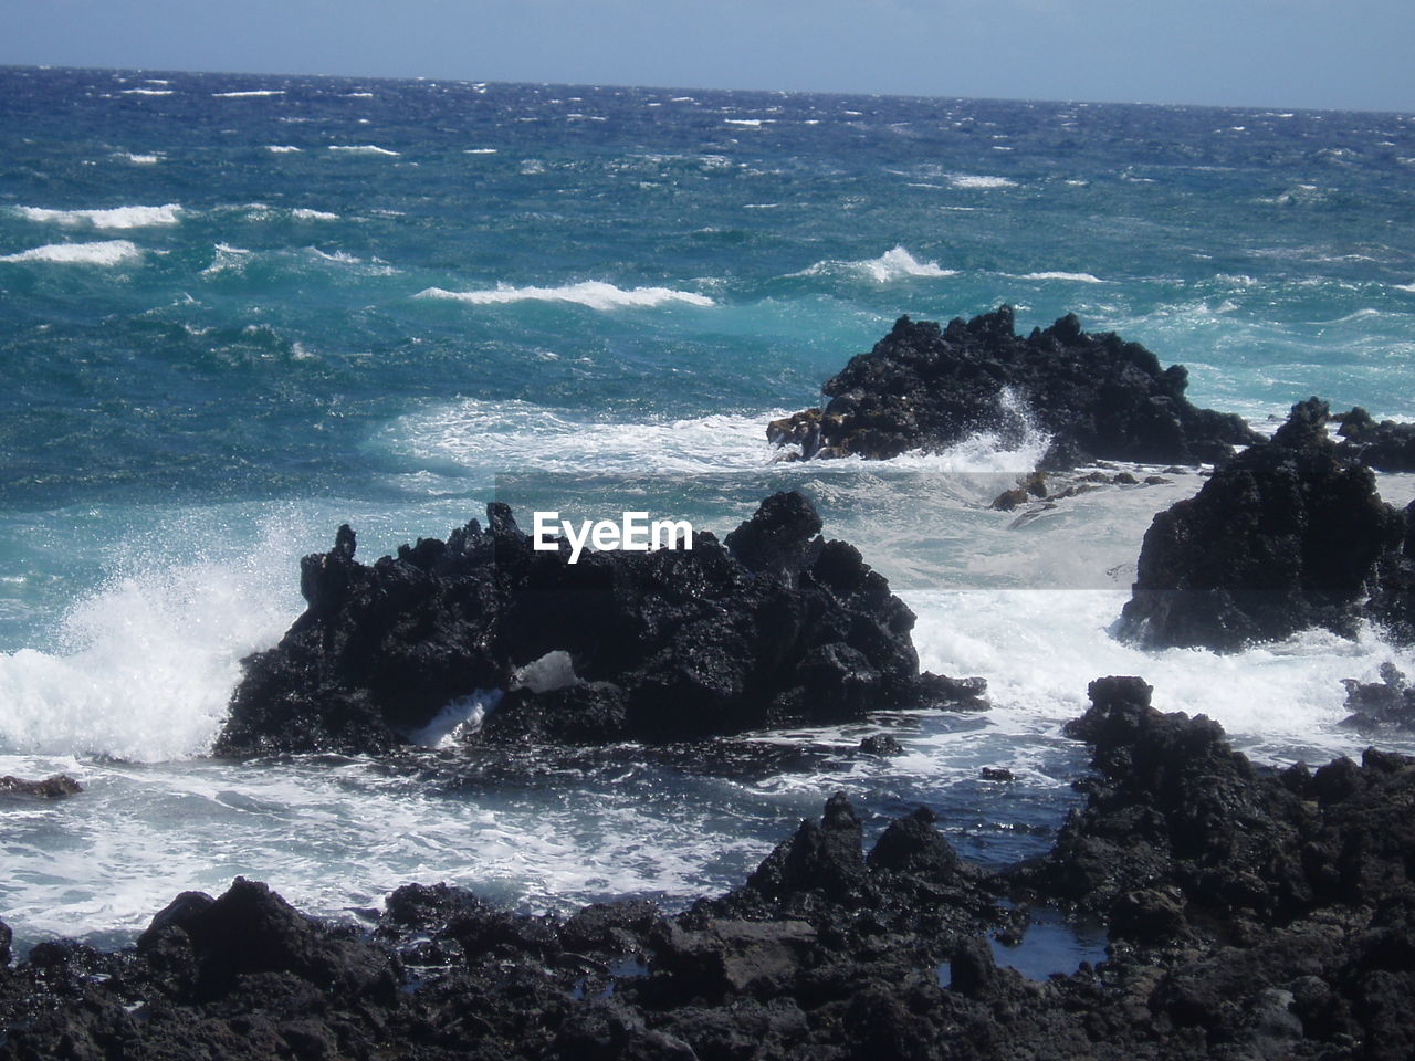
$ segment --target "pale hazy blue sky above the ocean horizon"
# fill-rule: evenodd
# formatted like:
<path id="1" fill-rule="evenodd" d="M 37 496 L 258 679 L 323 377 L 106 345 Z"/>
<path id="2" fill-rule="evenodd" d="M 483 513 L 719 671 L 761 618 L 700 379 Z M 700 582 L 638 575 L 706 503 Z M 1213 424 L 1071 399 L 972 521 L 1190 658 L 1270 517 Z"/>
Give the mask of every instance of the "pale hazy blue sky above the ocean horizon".
<path id="1" fill-rule="evenodd" d="M 0 0 L 0 64 L 1415 110 L 1411 0 Z"/>

